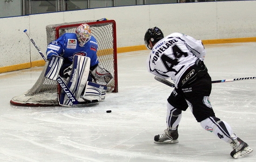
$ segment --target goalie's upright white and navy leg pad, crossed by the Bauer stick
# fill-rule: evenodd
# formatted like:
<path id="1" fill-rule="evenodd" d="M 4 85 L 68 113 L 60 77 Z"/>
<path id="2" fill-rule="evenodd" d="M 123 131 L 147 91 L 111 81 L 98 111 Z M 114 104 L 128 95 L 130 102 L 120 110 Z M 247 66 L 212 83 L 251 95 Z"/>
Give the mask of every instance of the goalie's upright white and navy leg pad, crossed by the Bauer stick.
<path id="1" fill-rule="evenodd" d="M 67 87 L 73 93 L 76 100 L 79 99 L 81 93 L 87 84 L 90 71 L 90 58 L 80 55 L 74 55 L 73 67 L 67 82 Z M 67 97 L 65 91 L 61 91 L 59 104 L 62 106 L 72 106 L 73 103 Z"/>

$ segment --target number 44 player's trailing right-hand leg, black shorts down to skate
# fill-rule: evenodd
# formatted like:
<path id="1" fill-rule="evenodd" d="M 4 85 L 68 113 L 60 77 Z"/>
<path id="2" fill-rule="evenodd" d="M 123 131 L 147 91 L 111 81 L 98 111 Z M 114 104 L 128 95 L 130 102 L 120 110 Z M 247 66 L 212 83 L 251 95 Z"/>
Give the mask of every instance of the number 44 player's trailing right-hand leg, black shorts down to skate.
<path id="1" fill-rule="evenodd" d="M 197 122 L 200 122 L 202 128 L 213 132 L 226 143 L 230 143 L 233 149 L 230 153 L 232 157 L 238 158 L 249 154 L 252 149 L 248 147 L 248 144 L 233 133 L 232 128 L 227 122 L 215 116 L 209 100 L 211 91 L 211 80 L 209 76 L 206 75 L 200 78 L 196 83 L 191 84 L 187 88 L 191 88 L 194 91 L 183 92 L 195 119 Z"/>

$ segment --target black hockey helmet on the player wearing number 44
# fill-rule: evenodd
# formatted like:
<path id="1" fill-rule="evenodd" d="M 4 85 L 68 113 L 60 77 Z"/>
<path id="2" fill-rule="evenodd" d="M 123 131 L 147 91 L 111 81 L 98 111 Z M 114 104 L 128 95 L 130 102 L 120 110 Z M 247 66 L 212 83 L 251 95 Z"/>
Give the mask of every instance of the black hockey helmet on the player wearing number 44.
<path id="1" fill-rule="evenodd" d="M 155 44 L 156 42 L 158 42 L 160 39 L 163 39 L 163 33 L 162 31 L 158 28 L 158 27 L 154 27 L 154 28 L 149 28 L 147 30 L 147 32 L 145 33 L 144 36 L 144 42 L 145 45 L 148 49 L 150 49 L 149 45 L 149 40 Z M 151 50 L 151 49 L 150 49 Z"/>

